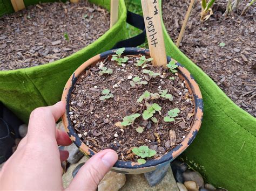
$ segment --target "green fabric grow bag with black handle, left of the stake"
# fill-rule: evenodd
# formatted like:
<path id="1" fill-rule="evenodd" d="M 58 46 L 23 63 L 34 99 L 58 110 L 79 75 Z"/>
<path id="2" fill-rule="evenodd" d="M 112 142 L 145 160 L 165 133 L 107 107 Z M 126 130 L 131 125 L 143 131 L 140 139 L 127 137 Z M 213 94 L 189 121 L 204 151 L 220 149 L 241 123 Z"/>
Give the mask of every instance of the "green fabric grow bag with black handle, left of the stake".
<path id="1" fill-rule="evenodd" d="M 40 1 L 49 2 L 49 1 Z M 110 9 L 110 0 L 90 0 Z M 25 5 L 39 3 L 25 0 Z M 10 0 L 0 0 L 0 15 L 13 12 Z M 119 1 L 119 19 L 102 37 L 80 51 L 45 65 L 0 71 L 0 101 L 24 122 L 30 112 L 44 105 L 60 100 L 66 81 L 84 61 L 100 52 L 111 49 L 126 36 L 126 8 L 124 0 Z"/>

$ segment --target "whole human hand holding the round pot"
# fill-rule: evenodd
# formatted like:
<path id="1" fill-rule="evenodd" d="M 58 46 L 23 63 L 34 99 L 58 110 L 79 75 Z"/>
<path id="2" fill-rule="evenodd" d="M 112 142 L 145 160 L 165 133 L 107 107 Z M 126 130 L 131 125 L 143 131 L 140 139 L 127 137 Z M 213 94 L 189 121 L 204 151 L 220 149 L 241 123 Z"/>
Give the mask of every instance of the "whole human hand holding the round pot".
<path id="1" fill-rule="evenodd" d="M 72 143 L 65 132 L 56 129 L 56 121 L 64 111 L 63 102 L 32 111 L 28 134 L 0 172 L 0 190 L 63 190 L 60 161 L 66 160 L 69 153 L 58 150 L 58 145 Z M 96 190 L 117 159 L 117 153 L 110 149 L 93 155 L 67 189 Z"/>

